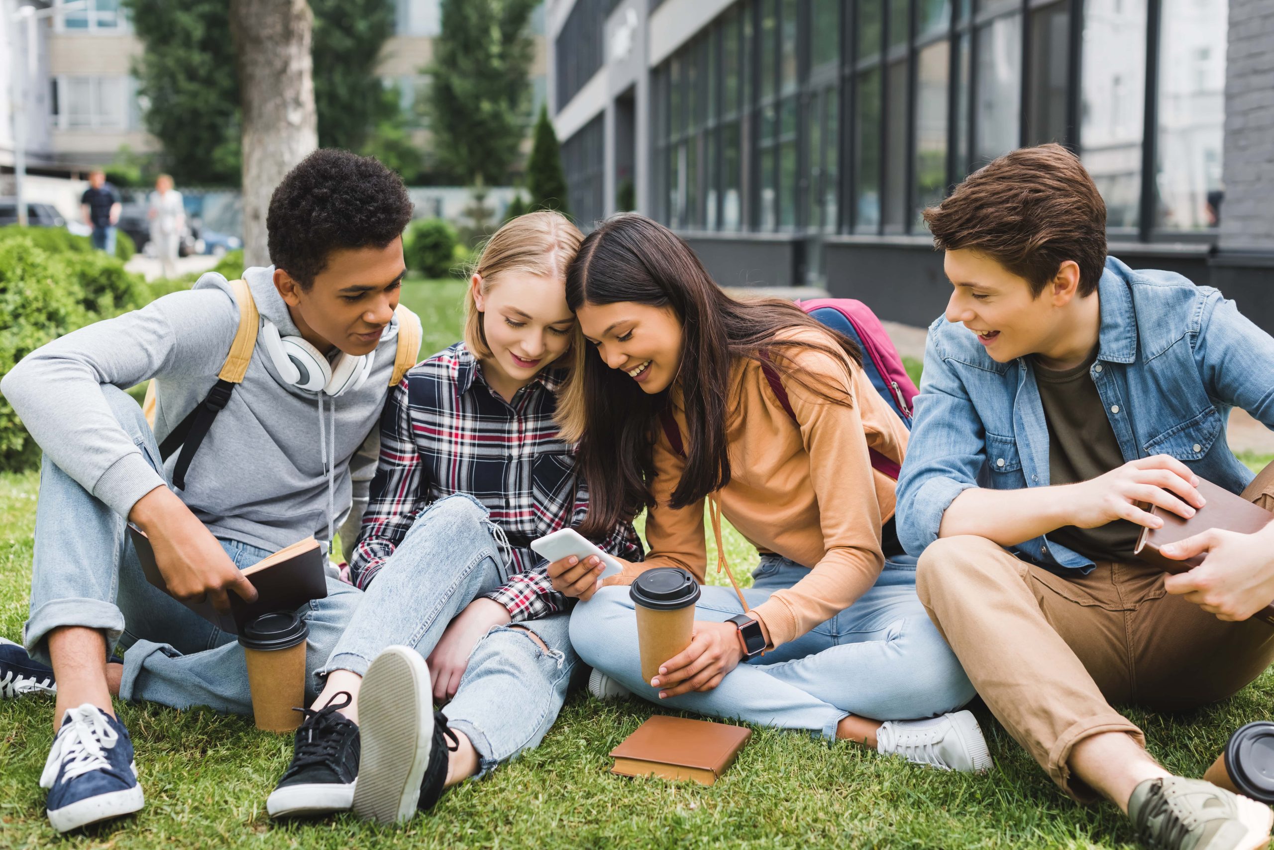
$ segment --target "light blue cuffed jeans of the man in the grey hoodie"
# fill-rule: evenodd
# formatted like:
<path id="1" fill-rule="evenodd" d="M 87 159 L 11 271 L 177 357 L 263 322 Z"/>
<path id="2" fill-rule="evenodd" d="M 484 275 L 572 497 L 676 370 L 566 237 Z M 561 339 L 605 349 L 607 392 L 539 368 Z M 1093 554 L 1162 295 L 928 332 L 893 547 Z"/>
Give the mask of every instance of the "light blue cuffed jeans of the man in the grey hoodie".
<path id="1" fill-rule="evenodd" d="M 115 417 L 163 475 L 154 434 L 141 408 L 124 391 L 103 387 Z M 240 569 L 270 552 L 224 540 Z M 299 610 L 310 625 L 306 648 L 306 704 L 321 690 L 315 669 L 344 631 L 362 594 L 327 579 L 327 598 Z M 252 714 L 243 650 L 225 634 L 147 582 L 124 518 L 93 498 L 46 456 L 36 508 L 36 556 L 31 578 L 31 618 L 23 643 L 48 663 L 48 632 L 61 626 L 99 629 L 107 651 L 124 653 L 120 699 L 162 702 L 177 709 L 206 705 Z M 103 662 L 106 659 L 102 659 Z"/>

